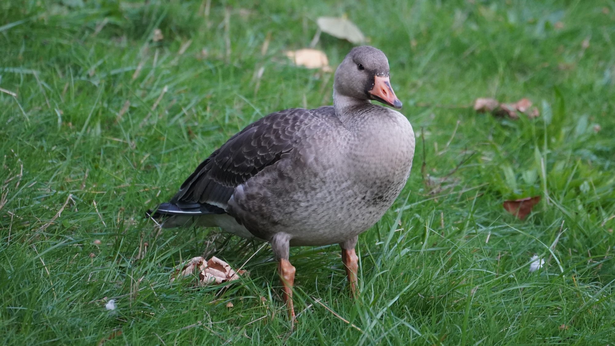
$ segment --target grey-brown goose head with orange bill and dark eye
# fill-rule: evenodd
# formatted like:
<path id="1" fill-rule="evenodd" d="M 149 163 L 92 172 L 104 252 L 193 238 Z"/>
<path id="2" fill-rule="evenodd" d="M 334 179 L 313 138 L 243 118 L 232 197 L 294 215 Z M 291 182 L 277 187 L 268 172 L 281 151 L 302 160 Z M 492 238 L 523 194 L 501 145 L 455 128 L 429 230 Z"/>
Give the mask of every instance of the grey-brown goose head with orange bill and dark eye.
<path id="1" fill-rule="evenodd" d="M 367 45 L 352 48 L 335 71 L 333 90 L 336 95 L 359 102 L 375 100 L 397 109 L 402 108 L 389 82 L 389 61 L 384 53 Z"/>

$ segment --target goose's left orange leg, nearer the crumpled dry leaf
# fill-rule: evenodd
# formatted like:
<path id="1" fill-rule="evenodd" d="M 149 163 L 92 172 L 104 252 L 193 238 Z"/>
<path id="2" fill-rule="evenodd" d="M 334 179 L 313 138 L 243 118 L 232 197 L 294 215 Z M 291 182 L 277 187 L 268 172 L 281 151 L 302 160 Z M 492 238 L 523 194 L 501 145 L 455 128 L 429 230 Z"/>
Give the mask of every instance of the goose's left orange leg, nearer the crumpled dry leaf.
<path id="1" fill-rule="evenodd" d="M 290 236 L 284 233 L 277 233 L 271 239 L 271 248 L 278 260 L 277 272 L 280 275 L 280 283 L 284 293 L 282 297 L 288 309 L 291 323 L 295 322 L 295 309 L 293 307 L 293 283 L 295 282 L 295 267 L 288 261 Z"/>

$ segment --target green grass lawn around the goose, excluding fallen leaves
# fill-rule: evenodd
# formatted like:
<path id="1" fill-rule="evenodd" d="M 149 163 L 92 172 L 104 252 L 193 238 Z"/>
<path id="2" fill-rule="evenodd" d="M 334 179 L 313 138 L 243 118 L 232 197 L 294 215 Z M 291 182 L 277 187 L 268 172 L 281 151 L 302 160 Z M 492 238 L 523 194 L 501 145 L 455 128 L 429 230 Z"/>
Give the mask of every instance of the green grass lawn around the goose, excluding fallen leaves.
<path id="1" fill-rule="evenodd" d="M 359 239 L 357 301 L 338 247 L 293 248 L 289 333 L 268 246 L 143 211 L 248 123 L 330 104 L 330 75 L 283 52 L 344 13 L 389 56 L 415 167 Z M 614 37 L 613 1 L 3 1 L 0 343 L 610 344 Z M 316 47 L 335 66 L 352 45 Z M 502 208 L 536 195 L 524 221 Z M 226 290 L 169 282 L 192 256 L 255 252 Z"/>

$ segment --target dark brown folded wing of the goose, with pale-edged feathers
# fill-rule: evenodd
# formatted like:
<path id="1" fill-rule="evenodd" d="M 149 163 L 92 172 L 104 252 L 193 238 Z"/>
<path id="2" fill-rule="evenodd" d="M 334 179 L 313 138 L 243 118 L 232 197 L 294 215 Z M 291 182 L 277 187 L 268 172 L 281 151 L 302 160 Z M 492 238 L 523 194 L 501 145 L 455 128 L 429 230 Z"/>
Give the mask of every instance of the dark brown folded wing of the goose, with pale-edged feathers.
<path id="1" fill-rule="evenodd" d="M 193 214 L 223 212 L 237 185 L 287 155 L 297 144 L 295 134 L 322 115 L 334 116 L 335 111 L 333 107 L 287 109 L 248 125 L 199 164 L 170 204 Z"/>

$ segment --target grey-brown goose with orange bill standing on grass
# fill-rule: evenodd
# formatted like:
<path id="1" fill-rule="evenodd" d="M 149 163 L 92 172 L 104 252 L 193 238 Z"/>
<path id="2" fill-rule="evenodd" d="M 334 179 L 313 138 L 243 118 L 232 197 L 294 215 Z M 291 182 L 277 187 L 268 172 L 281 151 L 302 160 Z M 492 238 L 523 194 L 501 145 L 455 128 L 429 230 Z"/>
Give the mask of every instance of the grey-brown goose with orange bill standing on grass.
<path id="1" fill-rule="evenodd" d="M 415 133 L 401 108 L 386 55 L 354 47 L 335 71 L 333 106 L 280 110 L 251 123 L 148 216 L 162 228 L 219 227 L 269 242 L 292 321 L 290 247 L 339 244 L 357 297 L 359 234 L 392 206 L 412 167 Z"/>

